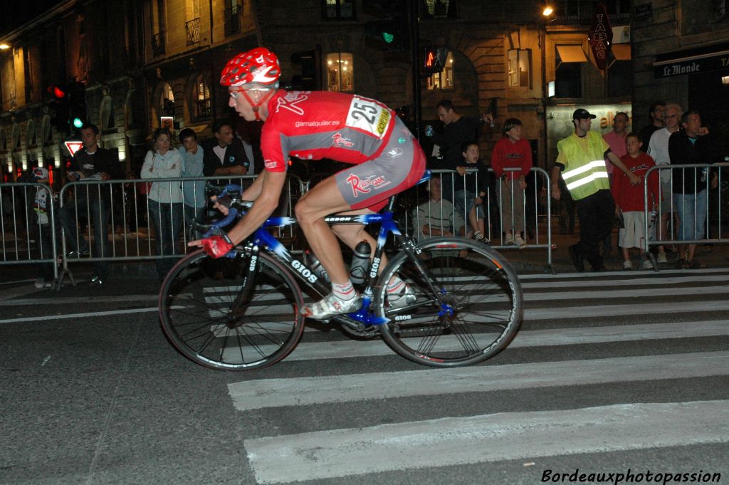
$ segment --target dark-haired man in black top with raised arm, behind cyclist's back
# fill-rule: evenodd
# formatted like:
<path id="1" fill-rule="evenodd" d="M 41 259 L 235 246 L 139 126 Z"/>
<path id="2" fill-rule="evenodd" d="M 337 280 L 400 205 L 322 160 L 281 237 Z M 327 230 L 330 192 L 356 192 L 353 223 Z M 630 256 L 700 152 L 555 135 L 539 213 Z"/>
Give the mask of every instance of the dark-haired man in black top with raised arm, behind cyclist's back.
<path id="1" fill-rule="evenodd" d="M 443 158 L 438 168 L 445 170 L 456 170 L 456 167 L 463 159 L 461 157 L 461 146 L 467 141 L 478 141 L 478 130 L 483 123 L 493 123 L 491 115 L 480 117 L 464 116 L 453 108 L 450 99 L 444 99 L 436 106 L 438 118 L 443 122 L 445 128 L 443 133 L 433 133 L 432 142 L 440 147 L 440 155 Z M 453 192 L 450 180 L 443 180 L 445 187 L 443 193 L 449 201 L 453 200 Z"/>

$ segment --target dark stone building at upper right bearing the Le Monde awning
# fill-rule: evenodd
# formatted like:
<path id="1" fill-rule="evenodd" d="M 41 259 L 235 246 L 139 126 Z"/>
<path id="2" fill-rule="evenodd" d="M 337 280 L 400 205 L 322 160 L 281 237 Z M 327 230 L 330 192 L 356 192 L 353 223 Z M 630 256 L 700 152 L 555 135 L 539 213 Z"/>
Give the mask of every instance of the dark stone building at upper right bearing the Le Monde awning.
<path id="1" fill-rule="evenodd" d="M 637 0 L 631 20 L 640 125 L 647 124 L 652 101 L 698 109 L 723 155 L 729 155 L 728 7 L 725 1 Z"/>

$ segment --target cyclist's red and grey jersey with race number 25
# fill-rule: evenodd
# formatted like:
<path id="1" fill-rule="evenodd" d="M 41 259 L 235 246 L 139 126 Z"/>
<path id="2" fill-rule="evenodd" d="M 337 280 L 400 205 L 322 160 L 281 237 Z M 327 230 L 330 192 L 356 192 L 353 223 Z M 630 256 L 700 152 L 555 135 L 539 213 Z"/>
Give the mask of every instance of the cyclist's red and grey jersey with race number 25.
<path id="1" fill-rule="evenodd" d="M 370 98 L 324 91 L 280 90 L 268 102 L 261 151 L 268 171 L 286 171 L 289 156 L 359 164 L 377 158 L 395 114 Z"/>

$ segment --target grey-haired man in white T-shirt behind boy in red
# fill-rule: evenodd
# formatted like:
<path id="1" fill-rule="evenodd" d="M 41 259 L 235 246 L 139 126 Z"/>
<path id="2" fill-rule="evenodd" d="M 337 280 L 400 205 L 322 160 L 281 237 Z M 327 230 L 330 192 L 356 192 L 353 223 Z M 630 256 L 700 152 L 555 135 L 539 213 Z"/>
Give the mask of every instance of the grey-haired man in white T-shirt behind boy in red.
<path id="1" fill-rule="evenodd" d="M 682 115 L 681 106 L 678 104 L 665 105 L 661 111 L 661 117 L 666 121 L 666 128 L 660 128 L 650 136 L 648 144 L 648 155 L 655 161 L 656 165 L 670 165 L 671 157 L 668 155 L 668 139 L 671 133 L 679 131 L 679 121 Z M 668 218 L 671 217 L 671 206 L 673 196 L 671 195 L 671 170 L 660 171 L 660 193 L 663 195 L 660 202 L 660 223 L 658 225 L 658 240 L 663 241 L 668 237 Z M 680 258 L 679 258 L 680 259 Z M 658 263 L 667 263 L 666 247 L 658 247 Z"/>

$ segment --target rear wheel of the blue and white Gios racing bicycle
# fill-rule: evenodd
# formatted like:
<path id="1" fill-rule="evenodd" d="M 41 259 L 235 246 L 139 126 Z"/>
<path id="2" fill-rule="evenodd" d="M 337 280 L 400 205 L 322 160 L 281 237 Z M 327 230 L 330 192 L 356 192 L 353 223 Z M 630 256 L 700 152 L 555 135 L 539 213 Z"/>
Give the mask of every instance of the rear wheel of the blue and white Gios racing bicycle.
<path id="1" fill-rule="evenodd" d="M 402 251 L 375 288 L 375 309 L 389 319 L 380 327 L 383 340 L 402 357 L 433 367 L 476 364 L 506 348 L 521 325 L 523 303 L 507 260 L 485 244 L 461 238 L 429 239 L 418 249 L 429 277 Z M 401 298 L 399 308 L 386 294 L 394 275 L 413 294 L 407 302 Z"/>

